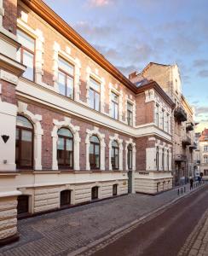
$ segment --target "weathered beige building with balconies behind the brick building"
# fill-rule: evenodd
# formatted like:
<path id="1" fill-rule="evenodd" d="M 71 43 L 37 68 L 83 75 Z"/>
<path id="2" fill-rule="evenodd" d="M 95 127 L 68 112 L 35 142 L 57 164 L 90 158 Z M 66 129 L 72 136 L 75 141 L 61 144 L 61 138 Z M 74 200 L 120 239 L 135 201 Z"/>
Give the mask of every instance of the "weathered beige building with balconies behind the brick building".
<path id="1" fill-rule="evenodd" d="M 150 62 L 142 73 L 131 73 L 130 81 L 141 86 L 149 80 L 156 81 L 176 104 L 171 119 L 173 141 L 172 171 L 174 184 L 184 183 L 194 175 L 193 150 L 194 143 L 194 112 L 185 97 L 182 96 L 182 82 L 177 65 L 163 65 Z M 159 115 L 163 111 L 159 109 Z"/>

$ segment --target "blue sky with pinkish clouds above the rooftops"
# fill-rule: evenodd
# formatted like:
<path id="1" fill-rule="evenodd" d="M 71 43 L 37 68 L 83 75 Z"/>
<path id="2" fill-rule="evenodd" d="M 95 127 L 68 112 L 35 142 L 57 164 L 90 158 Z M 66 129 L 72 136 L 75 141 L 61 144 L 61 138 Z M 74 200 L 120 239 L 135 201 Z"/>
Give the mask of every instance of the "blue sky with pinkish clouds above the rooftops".
<path id="1" fill-rule="evenodd" d="M 207 0 L 44 0 L 128 77 L 150 61 L 179 66 L 196 131 L 208 128 Z"/>

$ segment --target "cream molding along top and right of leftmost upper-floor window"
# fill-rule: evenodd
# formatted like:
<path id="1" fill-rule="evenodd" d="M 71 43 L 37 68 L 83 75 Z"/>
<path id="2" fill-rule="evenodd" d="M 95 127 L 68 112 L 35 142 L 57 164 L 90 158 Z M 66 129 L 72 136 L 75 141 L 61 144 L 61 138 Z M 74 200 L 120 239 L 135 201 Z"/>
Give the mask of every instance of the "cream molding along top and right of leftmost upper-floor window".
<path id="1" fill-rule="evenodd" d="M 32 38 L 35 39 L 35 82 L 41 84 L 44 87 L 50 88 L 48 84 L 42 82 L 43 76 L 43 53 L 44 53 L 44 38 L 43 32 L 39 29 L 32 29 L 32 27 L 26 24 L 26 17 L 21 14 L 21 18 L 17 19 L 17 26 L 23 32 L 29 34 Z M 51 89 L 51 88 L 50 88 Z"/>

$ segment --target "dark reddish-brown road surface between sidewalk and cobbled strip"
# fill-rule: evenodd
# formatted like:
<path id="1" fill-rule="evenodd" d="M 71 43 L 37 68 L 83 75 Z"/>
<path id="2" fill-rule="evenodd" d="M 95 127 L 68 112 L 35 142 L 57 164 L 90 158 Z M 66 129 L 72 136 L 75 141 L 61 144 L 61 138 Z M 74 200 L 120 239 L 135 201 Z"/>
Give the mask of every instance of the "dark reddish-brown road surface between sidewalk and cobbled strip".
<path id="1" fill-rule="evenodd" d="M 207 208 L 205 186 L 93 255 L 176 256 Z"/>

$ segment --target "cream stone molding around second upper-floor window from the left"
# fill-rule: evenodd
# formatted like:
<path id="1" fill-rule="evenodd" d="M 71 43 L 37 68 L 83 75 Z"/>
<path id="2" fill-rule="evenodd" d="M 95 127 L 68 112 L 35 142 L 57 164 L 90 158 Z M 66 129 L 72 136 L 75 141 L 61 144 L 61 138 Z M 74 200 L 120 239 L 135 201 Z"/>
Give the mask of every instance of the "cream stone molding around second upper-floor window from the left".
<path id="1" fill-rule="evenodd" d="M 59 92 L 58 88 L 58 69 L 59 69 L 59 56 L 64 58 L 66 61 L 71 63 L 74 66 L 74 100 L 79 102 L 79 95 L 80 95 L 80 68 L 81 68 L 81 63 L 78 60 L 78 58 L 74 59 L 71 55 L 71 49 L 66 46 L 66 51 L 61 49 L 60 44 L 55 42 L 54 44 L 54 67 L 53 67 L 53 72 L 54 72 L 54 87 L 55 91 Z"/>

